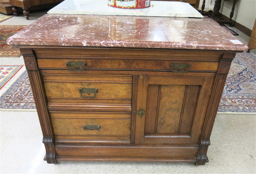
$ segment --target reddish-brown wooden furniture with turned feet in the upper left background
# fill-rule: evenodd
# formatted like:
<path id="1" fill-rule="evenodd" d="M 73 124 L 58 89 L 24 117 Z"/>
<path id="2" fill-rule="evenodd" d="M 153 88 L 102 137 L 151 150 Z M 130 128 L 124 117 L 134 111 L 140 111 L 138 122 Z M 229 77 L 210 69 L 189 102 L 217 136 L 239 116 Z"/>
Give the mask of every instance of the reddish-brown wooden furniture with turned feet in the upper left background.
<path id="1" fill-rule="evenodd" d="M 29 20 L 29 10 L 37 10 L 44 8 L 52 8 L 64 0 L 9 0 L 12 5 L 12 12 L 15 16 L 18 16 L 17 7 L 23 9 L 25 18 Z"/>

